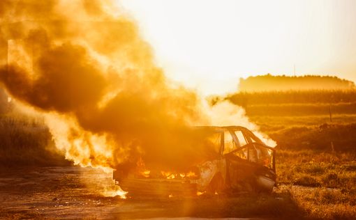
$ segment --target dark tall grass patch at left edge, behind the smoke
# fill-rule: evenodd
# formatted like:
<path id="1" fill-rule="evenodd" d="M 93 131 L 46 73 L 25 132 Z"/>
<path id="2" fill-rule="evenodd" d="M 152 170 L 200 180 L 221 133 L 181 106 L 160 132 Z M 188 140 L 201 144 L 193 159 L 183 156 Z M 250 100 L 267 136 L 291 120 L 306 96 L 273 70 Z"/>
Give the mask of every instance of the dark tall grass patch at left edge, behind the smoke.
<path id="1" fill-rule="evenodd" d="M 54 149 L 52 136 L 40 118 L 0 116 L 1 166 L 68 166 L 69 162 Z"/>

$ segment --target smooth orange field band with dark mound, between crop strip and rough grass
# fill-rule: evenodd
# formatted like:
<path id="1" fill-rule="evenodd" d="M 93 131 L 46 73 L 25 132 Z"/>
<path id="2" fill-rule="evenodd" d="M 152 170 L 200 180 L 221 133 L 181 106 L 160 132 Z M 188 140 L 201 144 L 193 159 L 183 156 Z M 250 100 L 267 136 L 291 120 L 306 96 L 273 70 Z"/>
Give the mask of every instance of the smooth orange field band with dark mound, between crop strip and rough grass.
<path id="1" fill-rule="evenodd" d="M 278 144 L 279 150 L 355 152 L 356 115 L 251 117 L 260 130 Z"/>

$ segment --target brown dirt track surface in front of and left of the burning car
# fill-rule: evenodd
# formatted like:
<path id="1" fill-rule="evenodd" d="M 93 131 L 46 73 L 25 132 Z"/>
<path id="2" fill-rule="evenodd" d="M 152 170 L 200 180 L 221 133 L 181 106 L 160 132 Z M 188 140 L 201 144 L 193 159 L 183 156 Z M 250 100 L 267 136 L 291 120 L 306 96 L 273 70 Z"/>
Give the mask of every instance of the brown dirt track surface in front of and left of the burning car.
<path id="1" fill-rule="evenodd" d="M 11 168 L 0 172 L 0 219 L 147 219 L 226 216 L 226 198 L 103 196 L 112 174 L 94 168 Z M 201 207 L 197 209 L 197 204 Z M 209 205 L 207 205 L 209 204 Z M 215 205 L 214 205 L 215 204 Z M 206 209 L 206 207 L 216 207 Z"/>

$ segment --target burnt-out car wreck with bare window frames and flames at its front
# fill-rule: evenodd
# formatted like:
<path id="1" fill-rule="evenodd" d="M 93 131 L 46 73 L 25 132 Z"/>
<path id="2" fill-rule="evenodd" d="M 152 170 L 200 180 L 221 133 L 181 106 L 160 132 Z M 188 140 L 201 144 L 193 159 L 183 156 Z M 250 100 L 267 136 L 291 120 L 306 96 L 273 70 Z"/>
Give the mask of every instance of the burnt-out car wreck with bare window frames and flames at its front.
<path id="1" fill-rule="evenodd" d="M 130 172 L 118 168 L 113 178 L 131 195 L 191 195 L 271 192 L 276 184 L 274 148 L 246 127 L 196 127 L 207 131 L 206 139 L 216 157 L 195 164 L 185 173 L 147 170 L 139 159 Z M 205 140 L 206 141 L 206 140 Z"/>

